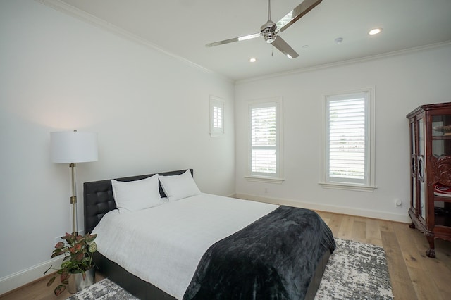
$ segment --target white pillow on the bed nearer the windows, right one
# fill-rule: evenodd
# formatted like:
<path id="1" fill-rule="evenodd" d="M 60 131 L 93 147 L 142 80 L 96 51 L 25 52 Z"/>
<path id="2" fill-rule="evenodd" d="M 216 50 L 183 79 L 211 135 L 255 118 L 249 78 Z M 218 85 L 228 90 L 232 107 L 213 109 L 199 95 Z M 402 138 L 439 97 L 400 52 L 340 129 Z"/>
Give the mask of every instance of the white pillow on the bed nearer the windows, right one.
<path id="1" fill-rule="evenodd" d="M 190 170 L 180 175 L 160 176 L 161 187 L 168 201 L 175 201 L 189 196 L 201 194 L 192 178 Z"/>

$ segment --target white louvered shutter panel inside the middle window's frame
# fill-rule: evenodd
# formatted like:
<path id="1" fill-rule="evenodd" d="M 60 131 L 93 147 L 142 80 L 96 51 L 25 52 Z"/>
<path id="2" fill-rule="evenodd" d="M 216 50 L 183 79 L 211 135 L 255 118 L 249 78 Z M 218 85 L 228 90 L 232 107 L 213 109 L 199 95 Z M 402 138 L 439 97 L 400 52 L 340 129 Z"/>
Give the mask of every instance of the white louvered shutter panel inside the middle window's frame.
<path id="1" fill-rule="evenodd" d="M 251 109 L 252 173 L 276 174 L 276 106 Z"/>

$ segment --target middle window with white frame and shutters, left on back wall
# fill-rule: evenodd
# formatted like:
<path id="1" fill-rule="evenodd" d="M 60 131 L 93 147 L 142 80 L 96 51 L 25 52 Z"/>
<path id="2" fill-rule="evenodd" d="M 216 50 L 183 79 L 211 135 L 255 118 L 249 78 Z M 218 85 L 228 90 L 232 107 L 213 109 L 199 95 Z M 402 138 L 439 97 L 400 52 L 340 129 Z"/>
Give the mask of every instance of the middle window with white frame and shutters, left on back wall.
<path id="1" fill-rule="evenodd" d="M 249 179 L 282 180 L 281 100 L 249 104 Z"/>

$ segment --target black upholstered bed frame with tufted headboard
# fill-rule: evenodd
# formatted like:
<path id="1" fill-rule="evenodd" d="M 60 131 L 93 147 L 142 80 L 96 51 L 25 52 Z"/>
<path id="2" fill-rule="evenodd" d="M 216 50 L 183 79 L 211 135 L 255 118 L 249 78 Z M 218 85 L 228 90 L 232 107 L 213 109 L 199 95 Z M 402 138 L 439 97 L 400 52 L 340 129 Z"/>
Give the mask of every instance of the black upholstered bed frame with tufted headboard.
<path id="1" fill-rule="evenodd" d="M 159 175 L 180 175 L 185 173 L 185 170 L 177 170 L 171 172 L 159 173 Z M 194 171 L 190 169 L 191 175 Z M 154 174 L 138 175 L 132 177 L 117 178 L 118 181 L 134 181 L 142 180 L 150 177 Z M 163 189 L 160 185 L 161 197 L 165 197 Z M 113 187 L 111 187 L 111 180 L 100 180 L 94 182 L 85 182 L 83 184 L 83 196 L 84 196 L 84 211 L 85 211 L 85 232 L 92 232 L 94 227 L 99 223 L 101 218 L 116 209 L 116 202 L 113 197 Z M 330 251 L 325 251 L 321 261 L 319 262 L 314 277 L 312 278 L 309 289 L 305 299 L 313 300 L 316 294 L 316 290 L 319 288 L 321 277 L 323 276 L 324 269 L 326 268 L 327 261 L 330 256 Z M 94 263 L 97 265 L 99 272 L 108 277 L 113 282 L 126 289 L 139 299 L 152 299 L 152 300 L 175 300 L 175 298 L 169 294 L 166 294 L 158 287 L 155 287 L 149 282 L 146 282 L 139 277 L 129 273 L 117 263 L 110 261 L 99 252 L 94 253 Z"/>

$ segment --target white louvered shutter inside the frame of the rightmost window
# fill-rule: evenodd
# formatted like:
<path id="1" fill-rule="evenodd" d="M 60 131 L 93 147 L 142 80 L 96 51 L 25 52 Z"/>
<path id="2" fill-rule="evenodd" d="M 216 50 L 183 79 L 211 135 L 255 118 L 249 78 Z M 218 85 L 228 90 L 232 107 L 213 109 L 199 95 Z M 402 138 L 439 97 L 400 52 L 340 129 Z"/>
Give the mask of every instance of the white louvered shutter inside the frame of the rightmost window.
<path id="1" fill-rule="evenodd" d="M 366 114 L 362 94 L 328 101 L 328 177 L 366 176 Z"/>

